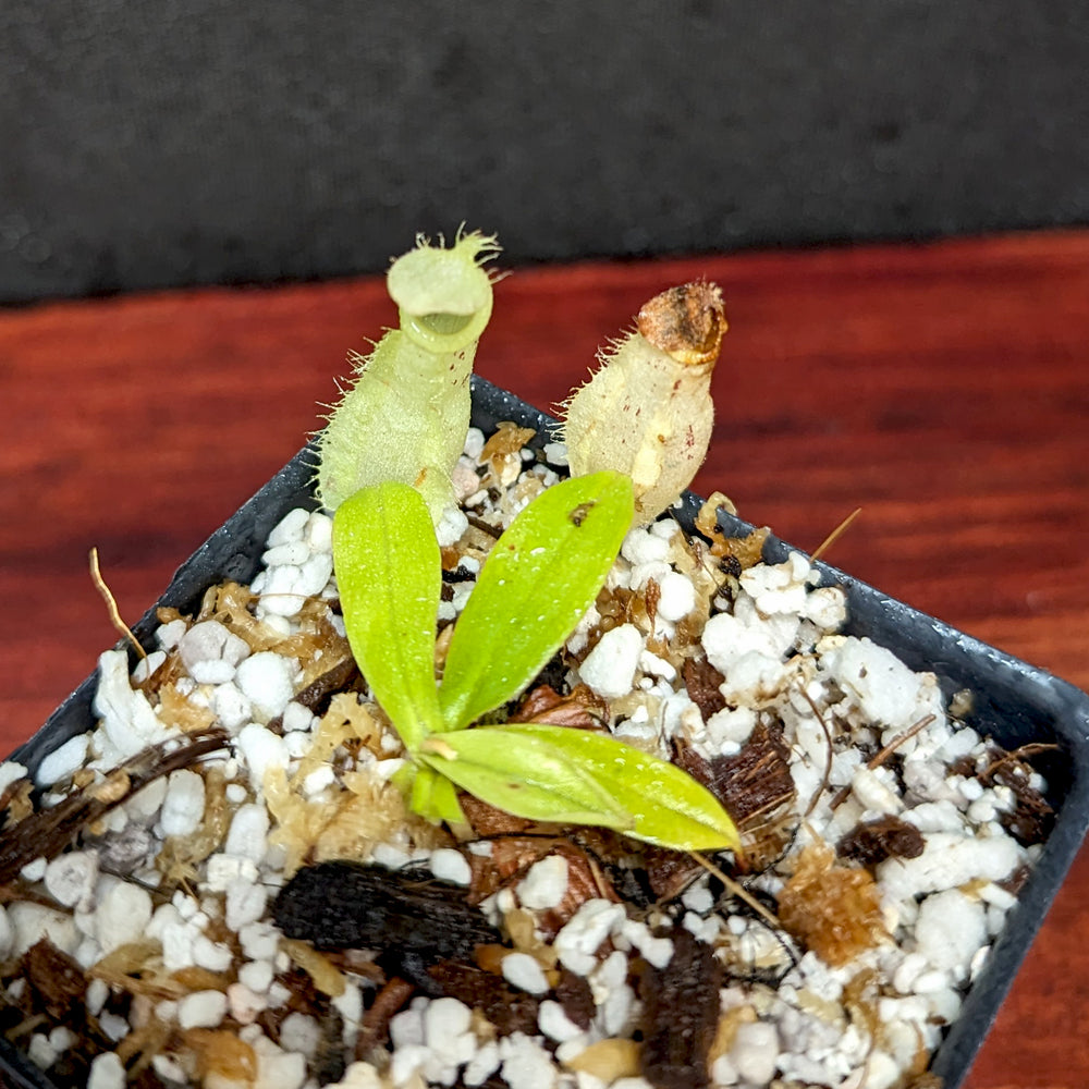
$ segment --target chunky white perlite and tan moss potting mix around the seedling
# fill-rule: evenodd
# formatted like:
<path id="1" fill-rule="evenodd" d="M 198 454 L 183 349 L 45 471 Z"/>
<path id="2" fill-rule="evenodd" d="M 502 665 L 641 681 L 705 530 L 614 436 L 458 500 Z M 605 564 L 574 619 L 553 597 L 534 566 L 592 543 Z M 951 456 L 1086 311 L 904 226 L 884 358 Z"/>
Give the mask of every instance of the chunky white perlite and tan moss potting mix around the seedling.
<path id="1" fill-rule="evenodd" d="M 499 530 L 556 479 L 548 466 L 564 465 L 565 451 L 548 444 L 548 464 L 523 451 L 514 479 L 510 465 L 495 476 L 477 462 L 484 443 L 472 429 L 455 492 L 477 523 Z M 325 514 L 289 512 L 269 535 L 264 570 L 244 589 L 255 597 L 218 612 L 209 607 L 199 620 L 168 617 L 159 651 L 132 676 L 123 653 L 102 656 L 95 729 L 38 767 L 50 804 L 72 790 L 73 774 L 97 786 L 122 760 L 151 744 L 181 744 L 194 729 L 220 727 L 228 745 L 126 798 L 86 842 L 26 858 L 23 880 L 63 909 L 30 901 L 0 907 L 0 957 L 14 960 L 48 939 L 94 970 L 111 954 L 144 950 L 148 978 L 187 980 L 154 1000 L 131 999 L 101 978 L 86 986 L 87 1012 L 122 1054 L 149 1019 L 166 1026 L 175 1050 L 151 1063 L 178 1085 L 199 1085 L 206 1062 L 184 1041 L 228 1033 L 246 1049 L 255 1089 L 423 1089 L 489 1079 L 511 1089 L 653 1089 L 649 1072 L 631 1067 L 635 1041 L 646 1035 L 647 980 L 670 970 L 677 950 L 692 944 L 688 934 L 729 967 L 718 994 L 696 1000 L 729 1018 L 726 1042 L 709 1064 L 714 1087 L 891 1089 L 916 1068 L 920 1047 L 937 1047 L 1016 903 L 1003 885 L 1037 848 L 1006 833 L 1002 821 L 1017 798 L 979 774 L 990 762 L 987 742 L 950 720 L 937 678 L 869 639 L 840 634 L 844 595 L 817 585 L 804 556 L 756 564 L 731 580 L 714 574 L 707 553 L 696 554 L 672 521 L 631 530 L 605 589 L 567 641 L 563 684 L 564 694 L 584 685 L 608 702 L 604 729 L 614 736 L 665 758 L 684 746 L 705 760 L 731 758 L 774 733 L 794 793 L 761 828 L 780 833 L 773 861 L 748 879 L 770 905 L 781 902 L 809 847 L 834 847 L 879 819 L 918 834 L 915 857 L 870 865 L 884 937 L 842 963 L 758 921 L 700 869 L 666 895 L 628 905 L 615 902 L 611 884 L 623 858 L 605 865 L 576 841 L 548 853 L 536 829 L 512 846 L 505 832 L 464 841 L 464 831 L 424 835 L 405 827 L 390 784 L 404 751 L 367 693 L 338 694 L 328 710 L 304 693 L 345 653 L 331 605 L 331 529 Z M 455 553 L 444 554 L 445 621 L 469 599 L 490 538 L 456 509 L 443 515 L 440 536 Z M 325 660 L 305 657 L 308 641 L 321 646 Z M 713 699 L 685 686 L 694 661 L 721 674 L 708 674 Z M 162 676 L 169 699 L 152 684 Z M 897 741 L 905 731 L 914 732 Z M 890 743 L 894 757 L 869 767 Z M 24 774 L 19 764 L 0 764 L 0 787 Z M 1044 786 L 1035 773 L 1032 785 Z M 633 857 L 638 849 L 631 846 Z M 417 991 L 391 1012 L 389 1055 L 378 1065 L 374 1054 L 357 1057 L 378 993 L 371 958 L 382 951 L 308 953 L 272 921 L 279 889 L 311 857 L 403 869 L 445 883 L 451 897 L 475 893 L 489 867 L 507 867 L 479 898 L 509 947 L 484 956 L 486 972 L 468 967 L 517 995 L 528 1014 L 498 1029 L 458 998 Z M 313 1008 L 298 1008 L 304 1000 L 289 990 L 304 978 L 318 995 L 305 1000 Z M 864 1000 L 851 998 L 859 979 L 869 981 Z M 15 978 L 0 986 L 17 1001 L 28 984 Z M 582 1004 L 571 999 L 576 991 Z M 865 1017 L 859 1001 L 869 1003 Z M 690 1013 L 684 1006 L 671 1016 Z M 610 1066 L 601 1056 L 613 1044 Z M 69 1026 L 44 1025 L 27 1047 L 49 1069 L 82 1042 Z M 335 1073 L 319 1073 L 332 1069 L 321 1065 L 331 1054 Z M 204 1085 L 242 1084 L 217 1078 L 209 1074 Z M 94 1057 L 90 1089 L 124 1084 L 117 1053 Z"/>

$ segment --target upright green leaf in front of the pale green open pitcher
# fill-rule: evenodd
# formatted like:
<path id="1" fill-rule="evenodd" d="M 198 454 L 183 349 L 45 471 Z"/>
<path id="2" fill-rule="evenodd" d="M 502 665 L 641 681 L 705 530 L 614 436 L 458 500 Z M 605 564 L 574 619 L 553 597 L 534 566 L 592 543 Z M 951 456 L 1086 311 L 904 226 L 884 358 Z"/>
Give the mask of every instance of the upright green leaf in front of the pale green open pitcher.
<path id="1" fill-rule="evenodd" d="M 342 503 L 333 566 L 352 653 L 411 752 L 442 729 L 435 684 L 442 563 L 419 493 L 388 481 Z"/>

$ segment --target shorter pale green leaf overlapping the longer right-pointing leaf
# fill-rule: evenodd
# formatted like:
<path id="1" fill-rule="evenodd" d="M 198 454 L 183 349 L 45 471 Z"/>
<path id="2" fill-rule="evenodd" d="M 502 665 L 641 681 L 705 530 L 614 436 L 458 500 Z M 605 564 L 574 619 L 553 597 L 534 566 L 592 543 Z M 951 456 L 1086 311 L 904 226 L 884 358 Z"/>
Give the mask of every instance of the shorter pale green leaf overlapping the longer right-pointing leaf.
<path id="1" fill-rule="evenodd" d="M 595 776 L 547 738 L 477 726 L 428 737 L 419 760 L 463 791 L 517 817 L 620 831 L 633 824 Z"/>

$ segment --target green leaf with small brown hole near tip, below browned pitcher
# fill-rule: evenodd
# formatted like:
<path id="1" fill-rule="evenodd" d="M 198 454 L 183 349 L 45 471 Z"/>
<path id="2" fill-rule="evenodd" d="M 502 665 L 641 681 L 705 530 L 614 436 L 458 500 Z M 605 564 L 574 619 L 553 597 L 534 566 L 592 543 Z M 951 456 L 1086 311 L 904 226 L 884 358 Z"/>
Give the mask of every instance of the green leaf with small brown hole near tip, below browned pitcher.
<path id="1" fill-rule="evenodd" d="M 439 706 L 461 730 L 513 699 L 575 629 L 632 524 L 632 481 L 595 473 L 537 497 L 494 543 L 446 653 Z"/>

